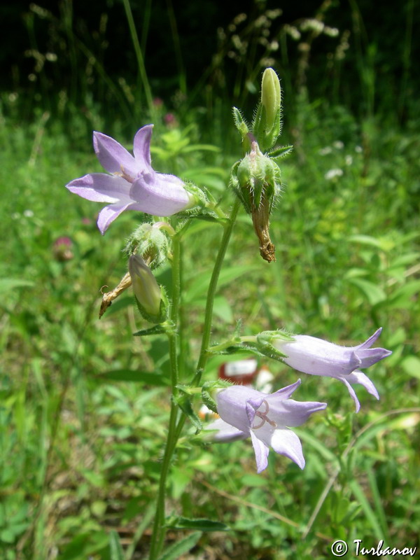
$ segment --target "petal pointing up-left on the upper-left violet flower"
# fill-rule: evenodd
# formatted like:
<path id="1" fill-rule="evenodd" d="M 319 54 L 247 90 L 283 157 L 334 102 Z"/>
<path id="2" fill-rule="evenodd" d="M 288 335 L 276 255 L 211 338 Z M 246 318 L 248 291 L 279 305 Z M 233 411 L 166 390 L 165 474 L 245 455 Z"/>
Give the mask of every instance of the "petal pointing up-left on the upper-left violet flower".
<path id="1" fill-rule="evenodd" d="M 107 172 L 124 173 L 131 181 L 137 178 L 140 169 L 136 160 L 119 142 L 102 132 L 94 132 L 93 147 L 99 162 Z"/>

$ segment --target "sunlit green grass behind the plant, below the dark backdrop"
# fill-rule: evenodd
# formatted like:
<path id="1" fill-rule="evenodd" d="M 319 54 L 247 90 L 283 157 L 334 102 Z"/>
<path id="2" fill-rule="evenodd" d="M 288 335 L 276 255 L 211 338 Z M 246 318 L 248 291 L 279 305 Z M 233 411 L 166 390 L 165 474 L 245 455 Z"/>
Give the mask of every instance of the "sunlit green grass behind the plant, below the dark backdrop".
<path id="1" fill-rule="evenodd" d="M 267 472 L 256 476 L 246 442 L 209 446 L 188 428 L 169 509 L 231 528 L 204 533 L 195 548 L 203 558 L 206 549 L 217 558 L 324 558 L 336 538 L 416 543 L 419 237 L 411 162 L 418 141 L 407 131 L 381 139 L 378 132 L 367 154 L 356 123 L 349 137 L 349 116 L 342 120 L 326 133 L 302 130 L 302 152 L 285 160 L 285 189 L 272 219 L 274 265 L 260 261 L 251 222 L 241 215 L 225 260 L 231 281 L 219 291 L 213 339 L 220 342 L 239 318 L 245 333 L 281 327 L 349 344 L 382 325 L 381 345 L 393 356 L 372 368 L 381 400 L 360 388 L 362 411 L 354 416 L 341 384 L 305 377 L 300 398 L 316 395 L 328 401 L 329 412 L 301 430 L 303 472 L 272 456 Z M 132 338 L 145 325 L 130 296 L 97 318 L 99 289 L 125 272 L 121 248 L 137 216 L 119 218 L 101 237 L 94 204 L 64 189 L 66 181 L 99 169 L 90 146 L 76 150 L 57 123 L 45 123 L 41 136 L 39 123 L 25 132 L 13 120 L 4 118 L 3 125 L 1 181 L 9 186 L 1 221 L 7 239 L 1 254 L 3 554 L 10 560 L 113 558 L 117 531 L 127 558 L 141 558 L 169 407 L 160 386 L 167 348 L 159 337 Z M 161 155 L 169 150 L 160 148 Z M 179 152 L 175 164 L 200 168 L 209 155 L 199 156 L 194 162 L 196 156 Z M 211 158 L 214 192 L 221 193 L 233 158 Z M 156 156 L 155 167 L 158 162 Z M 325 179 L 330 169 L 342 174 Z M 230 204 L 232 193 L 221 195 Z M 53 249 L 62 236 L 71 238 L 73 253 L 64 261 Z M 193 224 L 187 238 L 187 362 L 197 355 L 205 278 L 219 238 L 216 226 L 204 222 Z M 167 281 L 165 269 L 160 281 Z M 217 363 L 211 362 L 208 379 Z M 292 370 L 269 367 L 276 385 L 295 380 Z M 155 386 L 150 379 L 112 381 L 107 372 L 116 370 L 153 372 Z M 318 503 L 325 487 L 325 501 Z"/>

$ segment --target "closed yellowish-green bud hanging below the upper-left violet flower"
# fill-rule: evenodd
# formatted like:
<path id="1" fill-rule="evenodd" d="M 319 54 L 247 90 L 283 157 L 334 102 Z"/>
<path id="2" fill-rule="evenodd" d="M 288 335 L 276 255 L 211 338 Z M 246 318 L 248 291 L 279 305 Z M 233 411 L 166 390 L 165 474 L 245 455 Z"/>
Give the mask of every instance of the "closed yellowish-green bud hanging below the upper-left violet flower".
<path id="1" fill-rule="evenodd" d="M 162 300 L 162 291 L 146 262 L 139 255 L 131 255 L 128 270 L 141 315 L 151 323 L 165 321 L 166 306 Z"/>

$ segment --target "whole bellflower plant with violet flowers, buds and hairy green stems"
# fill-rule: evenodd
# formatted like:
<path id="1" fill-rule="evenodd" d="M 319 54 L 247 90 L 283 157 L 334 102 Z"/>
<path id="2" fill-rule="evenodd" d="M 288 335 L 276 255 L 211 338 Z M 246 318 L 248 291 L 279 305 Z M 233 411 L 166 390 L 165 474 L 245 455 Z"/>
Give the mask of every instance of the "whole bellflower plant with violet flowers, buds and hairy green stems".
<path id="1" fill-rule="evenodd" d="M 356 402 L 357 412 L 360 404 L 351 384 L 362 384 L 367 391 L 379 398 L 374 384 L 360 369 L 370 367 L 391 353 L 386 349 L 371 347 L 379 337 L 380 329 L 363 344 L 347 348 L 307 335 L 289 336 L 280 331 L 241 337 L 238 323 L 235 333 L 227 340 L 212 344 L 218 279 L 241 207 L 252 217 L 260 255 L 267 262 L 275 260 L 275 247 L 269 237 L 269 218 L 279 203 L 282 190 L 279 162 L 283 155 L 290 153 L 291 146 L 276 145 L 281 133 L 281 87 L 279 78 L 272 69 L 264 72 L 260 101 L 253 114 L 253 123 L 248 125 L 241 111 L 234 108 L 235 126 L 241 137 L 241 158 L 235 162 L 230 172 L 229 190 L 234 195 L 233 202 L 228 201 L 230 211 L 223 209 L 227 196 L 220 196 L 221 193 L 212 196 L 212 193 L 209 193 L 207 197 L 200 189 L 183 183 L 178 177 L 153 169 L 150 151 L 153 125 L 146 125 L 138 130 L 134 137 L 133 154 L 106 134 L 94 132 L 94 151 L 106 173 L 87 174 L 66 185 L 71 193 L 87 200 L 106 203 L 98 218 L 98 227 L 102 234 L 125 210 L 162 216 L 162 221 L 139 216 L 141 224 L 138 224 L 136 230 L 128 237 L 125 247 L 129 270 L 116 288 L 103 294 L 99 313 L 99 316 L 102 316 L 113 300 L 132 285 L 134 301 L 137 302 L 141 314 L 139 319 L 148 322 L 146 328 L 141 328 L 134 335 L 160 335 L 167 339 L 167 344 L 161 346 L 160 357 L 164 358 L 166 372 L 166 358 L 169 356 L 169 375 L 168 378 L 165 377 L 165 384 L 169 379 L 171 394 L 168 395 L 167 401 L 170 412 L 165 451 L 160 461 L 160 481 L 149 560 L 167 556 L 165 552 L 162 554 L 165 533 L 168 527 L 177 526 L 176 521 L 173 521 L 174 516 L 167 517 L 169 500 L 166 499 L 166 495 L 170 486 L 168 479 L 174 457 L 179 452 L 181 437 L 185 435 L 191 442 L 194 441 L 191 431 L 183 434 L 187 419 L 197 437 L 202 429 L 202 421 L 195 413 L 197 402 L 194 399 L 197 395 L 201 394 L 202 402 L 219 415 L 219 418 L 208 426 L 210 430 L 214 430 L 211 437 L 216 442 L 251 437 L 258 472 L 267 468 L 270 448 L 277 454 L 290 458 L 303 469 L 305 460 L 302 444 L 293 428 L 301 426 L 311 414 L 327 406 L 325 402 L 316 400 L 293 400 L 291 396 L 300 385 L 300 379 L 270 394 L 247 386 L 232 386 L 226 379 L 214 381 L 211 379 L 214 371 L 209 372 L 207 367 L 210 356 L 235 352 L 243 356 L 244 352 L 249 352 L 259 358 L 283 360 L 301 372 L 335 377 L 349 389 Z M 192 152 L 196 148 L 200 149 L 200 145 L 189 148 Z M 188 211 L 196 206 L 193 211 Z M 174 216 L 171 221 L 165 220 L 180 212 L 183 212 L 182 216 Z M 195 230 L 190 227 L 191 222 L 197 219 L 206 220 L 209 228 L 216 223 L 223 233 L 212 259 L 214 265 L 208 284 L 202 325 L 193 325 L 193 328 L 190 328 L 190 321 L 194 321 L 199 315 L 197 311 L 190 312 L 188 309 L 193 298 L 183 297 L 183 278 L 188 277 L 187 274 L 182 274 L 183 266 L 185 267 L 191 259 L 183 261 L 182 255 L 185 248 L 188 250 L 192 239 L 187 238 L 187 234 L 190 235 L 191 230 L 195 235 L 201 231 L 200 228 Z M 214 239 L 213 235 L 211 239 Z M 204 241 L 205 237 L 200 239 L 202 244 Z M 164 264 L 170 268 L 171 278 L 165 276 L 164 286 L 160 286 L 155 279 L 155 271 Z M 187 330 L 188 328 L 190 330 Z M 194 335 L 197 335 L 197 332 L 202 333 L 199 346 L 195 343 L 190 344 L 190 332 Z M 189 351 L 190 348 L 197 347 L 200 350 L 197 351 L 195 360 L 195 356 L 193 353 L 190 355 Z M 158 378 L 159 372 L 155 374 Z M 216 390 L 218 393 L 213 397 Z M 312 437 L 315 438 L 316 433 Z M 207 530 L 207 521 L 188 520 L 186 526 L 194 527 L 197 531 Z M 218 522 L 217 525 L 220 528 L 222 524 Z M 169 555 L 172 553 L 173 551 Z"/>

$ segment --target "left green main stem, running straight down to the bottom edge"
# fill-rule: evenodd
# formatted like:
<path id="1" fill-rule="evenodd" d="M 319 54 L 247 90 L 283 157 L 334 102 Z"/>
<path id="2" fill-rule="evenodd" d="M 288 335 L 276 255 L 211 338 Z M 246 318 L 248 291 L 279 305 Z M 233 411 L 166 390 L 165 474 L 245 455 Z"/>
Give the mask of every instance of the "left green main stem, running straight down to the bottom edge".
<path id="1" fill-rule="evenodd" d="M 178 325 L 179 315 L 179 299 L 181 295 L 181 241 L 178 235 L 172 237 L 172 307 L 171 320 L 174 325 Z M 150 560 L 155 560 L 162 549 L 165 539 L 165 494 L 166 482 L 169 467 L 172 461 L 172 455 L 176 446 L 176 417 L 178 416 L 178 407 L 175 398 L 178 396 L 178 339 L 176 331 L 170 331 L 167 334 L 169 342 L 169 358 L 171 363 L 171 386 L 172 386 L 172 402 L 171 414 L 169 416 L 169 426 L 167 442 L 165 446 L 165 454 L 162 459 L 162 470 L 160 471 L 158 502 L 156 504 L 155 521 L 153 523 L 153 534 L 151 540 Z"/>

